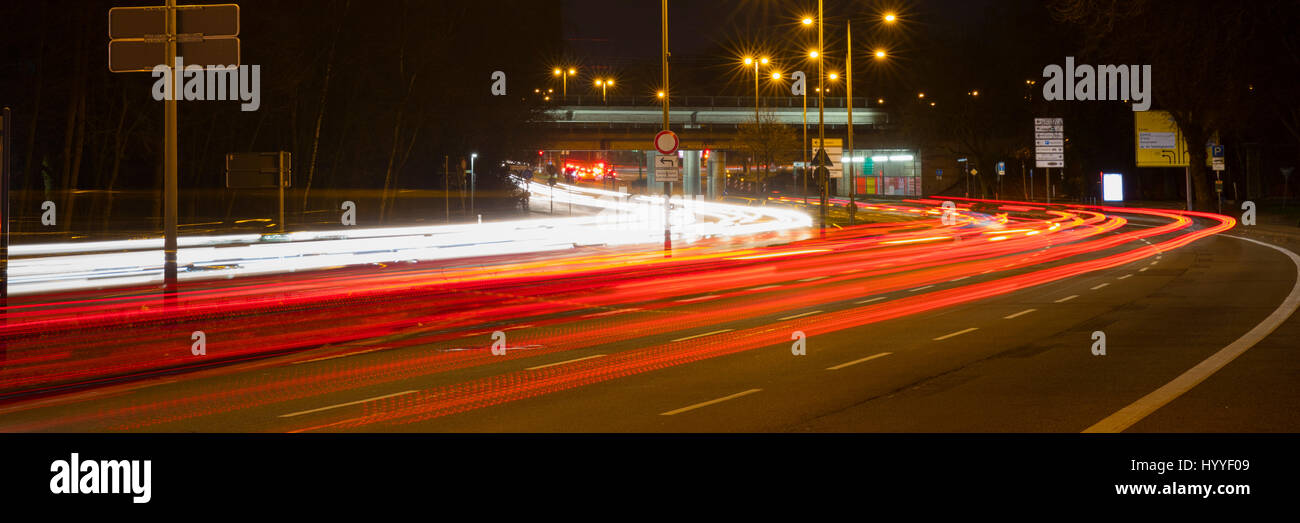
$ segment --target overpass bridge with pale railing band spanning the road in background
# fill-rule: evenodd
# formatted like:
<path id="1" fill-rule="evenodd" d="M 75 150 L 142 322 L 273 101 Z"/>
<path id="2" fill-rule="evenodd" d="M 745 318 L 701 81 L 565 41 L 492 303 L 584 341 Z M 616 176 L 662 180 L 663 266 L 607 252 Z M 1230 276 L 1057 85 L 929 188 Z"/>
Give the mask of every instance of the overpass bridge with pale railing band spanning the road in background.
<path id="1" fill-rule="evenodd" d="M 637 96 L 568 96 L 558 99 L 549 111 L 550 148 L 584 151 L 644 151 L 650 137 L 663 129 L 663 107 L 658 100 Z M 809 137 L 816 134 L 816 98 L 807 98 Z M 764 96 L 759 113 L 764 122 L 800 127 L 803 125 L 803 98 Z M 826 130 L 829 137 L 842 137 L 848 129 L 850 103 L 845 98 L 826 99 Z M 854 135 L 866 138 L 893 129 L 889 112 L 868 105 L 868 99 L 854 98 Z M 754 99 L 746 96 L 681 96 L 670 109 L 671 127 L 681 138 L 684 150 L 728 150 L 741 124 L 754 121 Z"/>

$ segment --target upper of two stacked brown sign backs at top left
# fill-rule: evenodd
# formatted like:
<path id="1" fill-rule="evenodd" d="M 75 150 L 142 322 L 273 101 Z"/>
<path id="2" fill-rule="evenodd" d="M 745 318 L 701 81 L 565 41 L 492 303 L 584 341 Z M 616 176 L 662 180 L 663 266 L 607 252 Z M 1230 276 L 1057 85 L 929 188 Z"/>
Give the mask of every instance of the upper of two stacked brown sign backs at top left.
<path id="1" fill-rule="evenodd" d="M 177 5 L 176 29 L 181 35 L 238 36 L 239 5 Z M 108 38 L 150 38 L 166 33 L 166 9 L 159 7 L 112 8 L 108 10 Z"/>

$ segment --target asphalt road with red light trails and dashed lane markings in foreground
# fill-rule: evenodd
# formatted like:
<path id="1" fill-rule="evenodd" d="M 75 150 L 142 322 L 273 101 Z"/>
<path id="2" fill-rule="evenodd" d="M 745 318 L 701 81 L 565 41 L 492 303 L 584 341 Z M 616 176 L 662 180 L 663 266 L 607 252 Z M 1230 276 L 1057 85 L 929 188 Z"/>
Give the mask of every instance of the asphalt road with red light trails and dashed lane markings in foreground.
<path id="1" fill-rule="evenodd" d="M 1127 217 L 1105 234 L 1160 224 Z M 1219 234 L 982 299 L 926 303 L 1171 237 L 916 288 L 836 264 L 728 291 L 666 285 L 633 306 L 450 334 L 410 329 L 22 398 L 0 405 L 0 431 L 1080 432 L 1265 321 L 1296 285 L 1296 264 Z M 920 310 L 854 324 L 867 314 L 857 311 L 901 307 Z M 493 330 L 506 334 L 504 356 L 488 354 Z M 806 334 L 806 354 L 792 354 L 796 330 Z M 1097 332 L 1105 355 L 1093 354 Z M 1300 317 L 1291 316 L 1126 428 L 1295 432 L 1295 340 Z M 448 364 L 439 359 L 448 353 L 481 358 Z"/>

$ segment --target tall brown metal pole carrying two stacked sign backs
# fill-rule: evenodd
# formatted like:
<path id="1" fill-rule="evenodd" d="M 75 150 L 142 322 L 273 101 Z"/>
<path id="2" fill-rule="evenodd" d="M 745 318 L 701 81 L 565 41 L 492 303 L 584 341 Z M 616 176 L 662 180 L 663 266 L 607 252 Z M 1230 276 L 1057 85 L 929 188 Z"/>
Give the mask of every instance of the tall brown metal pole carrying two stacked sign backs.
<path id="1" fill-rule="evenodd" d="M 176 243 L 177 243 L 177 92 L 179 70 L 176 70 L 176 0 L 166 0 L 166 66 L 172 70 L 172 96 L 164 101 L 162 138 L 162 293 L 172 303 L 177 293 Z"/>

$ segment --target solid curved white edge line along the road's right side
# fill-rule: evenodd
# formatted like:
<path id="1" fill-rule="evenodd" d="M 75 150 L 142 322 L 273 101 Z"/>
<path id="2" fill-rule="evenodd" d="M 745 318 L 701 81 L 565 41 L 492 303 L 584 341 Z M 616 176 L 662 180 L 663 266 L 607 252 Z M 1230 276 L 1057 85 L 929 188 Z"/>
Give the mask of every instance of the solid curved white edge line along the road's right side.
<path id="1" fill-rule="evenodd" d="M 1242 355 L 1243 353 L 1253 347 L 1256 343 L 1262 341 L 1265 337 L 1271 334 L 1273 330 L 1277 330 L 1277 328 L 1280 327 L 1283 321 L 1286 321 L 1288 317 L 1291 317 L 1292 314 L 1295 314 L 1296 308 L 1300 308 L 1300 256 L 1297 256 L 1295 252 L 1291 252 L 1275 245 L 1269 245 L 1251 238 L 1242 238 L 1230 234 L 1223 234 L 1223 235 L 1228 238 L 1243 239 L 1251 243 L 1258 243 L 1265 247 L 1274 248 L 1291 258 L 1291 263 L 1296 264 L 1296 285 L 1291 288 L 1291 294 L 1287 294 L 1287 298 L 1282 301 L 1282 304 L 1278 306 L 1278 308 L 1274 310 L 1273 314 L 1269 315 L 1269 317 L 1265 317 L 1264 321 L 1261 321 L 1258 325 L 1254 325 L 1254 328 L 1251 329 L 1251 332 L 1247 332 L 1240 338 L 1236 338 L 1236 341 L 1234 341 L 1231 345 L 1219 349 L 1218 353 L 1214 353 L 1212 356 L 1205 358 L 1205 360 L 1197 363 L 1196 367 L 1192 367 L 1187 372 L 1183 372 L 1182 375 L 1175 377 L 1174 381 L 1170 381 L 1165 384 L 1165 386 L 1161 386 L 1154 392 L 1152 392 L 1150 394 L 1141 397 L 1140 399 L 1132 402 L 1127 407 L 1121 409 L 1118 412 L 1106 416 L 1105 419 L 1097 422 L 1092 427 L 1088 427 L 1083 432 L 1087 433 L 1087 432 L 1126 431 L 1135 423 L 1141 422 L 1143 418 L 1150 415 L 1150 412 L 1154 412 L 1160 407 L 1169 405 L 1169 402 L 1174 401 L 1179 396 L 1183 396 L 1183 393 L 1191 390 L 1201 381 L 1205 381 L 1206 377 L 1210 377 L 1213 373 L 1218 372 L 1218 369 L 1231 363 L 1234 359 L 1236 359 L 1236 356 Z"/>

